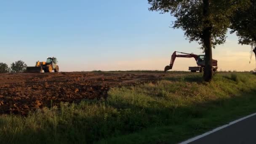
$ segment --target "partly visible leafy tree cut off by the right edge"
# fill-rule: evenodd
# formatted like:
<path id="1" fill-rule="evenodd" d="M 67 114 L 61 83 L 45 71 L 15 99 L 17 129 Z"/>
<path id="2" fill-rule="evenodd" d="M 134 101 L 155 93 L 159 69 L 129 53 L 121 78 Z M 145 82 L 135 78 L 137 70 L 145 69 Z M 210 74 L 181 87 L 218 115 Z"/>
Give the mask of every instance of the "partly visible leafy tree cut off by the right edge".
<path id="1" fill-rule="evenodd" d="M 231 22 L 231 33 L 236 32 L 240 44 L 251 45 L 256 59 L 256 0 L 250 0 L 248 8 L 237 9 Z"/>

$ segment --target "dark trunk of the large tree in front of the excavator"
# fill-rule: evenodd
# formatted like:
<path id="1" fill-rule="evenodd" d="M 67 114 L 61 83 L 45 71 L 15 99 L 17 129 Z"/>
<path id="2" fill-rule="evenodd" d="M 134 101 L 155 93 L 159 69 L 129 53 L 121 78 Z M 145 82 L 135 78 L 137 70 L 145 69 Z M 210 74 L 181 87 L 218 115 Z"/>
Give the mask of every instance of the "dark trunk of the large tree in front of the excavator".
<path id="1" fill-rule="evenodd" d="M 206 20 L 204 20 L 203 29 L 203 43 L 205 46 L 205 70 L 203 74 L 203 78 L 206 82 L 210 82 L 213 76 L 212 71 L 212 50 L 211 50 L 211 23 L 208 20 L 210 16 L 210 5 L 209 0 L 203 0 L 203 16 Z"/>

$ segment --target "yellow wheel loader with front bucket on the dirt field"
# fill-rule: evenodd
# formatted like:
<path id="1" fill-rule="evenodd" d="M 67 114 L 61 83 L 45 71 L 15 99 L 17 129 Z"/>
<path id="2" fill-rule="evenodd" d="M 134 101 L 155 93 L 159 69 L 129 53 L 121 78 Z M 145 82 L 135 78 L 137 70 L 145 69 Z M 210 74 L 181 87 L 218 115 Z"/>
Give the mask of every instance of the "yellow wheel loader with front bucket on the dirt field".
<path id="1" fill-rule="evenodd" d="M 57 58 L 47 58 L 45 61 L 37 61 L 35 67 L 27 67 L 27 72 L 59 72 L 59 66 L 57 65 Z"/>

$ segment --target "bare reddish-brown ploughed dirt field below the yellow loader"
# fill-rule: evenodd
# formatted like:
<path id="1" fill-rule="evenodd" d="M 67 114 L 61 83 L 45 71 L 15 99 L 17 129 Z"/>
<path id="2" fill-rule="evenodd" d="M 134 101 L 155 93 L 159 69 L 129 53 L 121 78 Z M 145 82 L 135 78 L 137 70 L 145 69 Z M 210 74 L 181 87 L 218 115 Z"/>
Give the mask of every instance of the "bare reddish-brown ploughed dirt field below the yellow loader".
<path id="1" fill-rule="evenodd" d="M 156 81 L 162 72 L 0 74 L 0 114 L 27 115 L 42 107 L 107 97 L 111 87 Z"/>

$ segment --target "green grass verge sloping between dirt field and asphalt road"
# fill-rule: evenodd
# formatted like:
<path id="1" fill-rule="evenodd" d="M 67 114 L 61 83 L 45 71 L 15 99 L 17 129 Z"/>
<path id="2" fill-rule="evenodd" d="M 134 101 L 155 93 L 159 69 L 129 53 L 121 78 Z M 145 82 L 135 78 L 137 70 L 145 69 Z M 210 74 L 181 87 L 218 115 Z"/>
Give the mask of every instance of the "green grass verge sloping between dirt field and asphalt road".
<path id="1" fill-rule="evenodd" d="M 256 75 L 199 73 L 112 88 L 107 100 L 0 116 L 1 143 L 177 143 L 256 112 Z"/>

